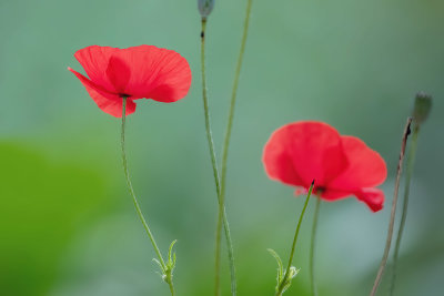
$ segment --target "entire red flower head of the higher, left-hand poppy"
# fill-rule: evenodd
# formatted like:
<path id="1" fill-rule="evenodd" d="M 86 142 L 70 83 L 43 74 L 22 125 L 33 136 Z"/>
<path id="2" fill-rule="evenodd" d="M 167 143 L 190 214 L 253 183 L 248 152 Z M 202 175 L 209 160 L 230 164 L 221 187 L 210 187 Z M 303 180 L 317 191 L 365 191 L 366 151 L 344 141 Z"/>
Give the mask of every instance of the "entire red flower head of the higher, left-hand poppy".
<path id="1" fill-rule="evenodd" d="M 186 95 L 191 70 L 186 60 L 172 50 L 153 45 L 128 49 L 92 45 L 75 52 L 88 78 L 68 68 L 83 83 L 98 106 L 115 118 L 135 111 L 134 100 L 152 99 L 170 103 Z"/>

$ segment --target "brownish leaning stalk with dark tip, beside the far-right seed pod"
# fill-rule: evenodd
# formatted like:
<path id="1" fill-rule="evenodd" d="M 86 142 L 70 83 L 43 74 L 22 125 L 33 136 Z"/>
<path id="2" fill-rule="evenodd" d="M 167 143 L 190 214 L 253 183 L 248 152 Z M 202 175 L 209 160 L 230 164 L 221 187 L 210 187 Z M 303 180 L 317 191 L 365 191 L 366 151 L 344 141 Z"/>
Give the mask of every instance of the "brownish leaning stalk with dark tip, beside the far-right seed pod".
<path id="1" fill-rule="evenodd" d="M 382 276 L 384 274 L 385 266 L 387 264 L 387 257 L 390 253 L 390 247 L 392 244 L 392 236 L 393 236 L 393 226 L 395 223 L 395 214 L 396 214 L 396 204 L 397 204 L 397 193 L 400 191 L 400 181 L 401 181 L 401 173 L 402 173 L 402 166 L 403 166 L 403 161 L 404 161 L 404 154 L 405 154 L 405 146 L 407 144 L 407 137 L 411 133 L 410 125 L 412 124 L 412 118 L 407 119 L 407 123 L 405 124 L 404 127 L 404 133 L 402 137 L 402 143 L 401 143 L 401 153 L 400 153 L 400 161 L 397 163 L 397 174 L 396 174 L 396 182 L 395 182 L 395 191 L 393 194 L 393 202 L 392 202 L 392 212 L 390 216 L 390 223 L 389 223 L 389 232 L 387 232 L 387 238 L 385 242 L 385 248 L 384 248 L 384 255 L 381 259 L 380 268 L 376 274 L 375 282 L 373 284 L 372 292 L 370 293 L 371 296 L 374 296 L 376 294 L 377 287 L 380 286 Z"/>

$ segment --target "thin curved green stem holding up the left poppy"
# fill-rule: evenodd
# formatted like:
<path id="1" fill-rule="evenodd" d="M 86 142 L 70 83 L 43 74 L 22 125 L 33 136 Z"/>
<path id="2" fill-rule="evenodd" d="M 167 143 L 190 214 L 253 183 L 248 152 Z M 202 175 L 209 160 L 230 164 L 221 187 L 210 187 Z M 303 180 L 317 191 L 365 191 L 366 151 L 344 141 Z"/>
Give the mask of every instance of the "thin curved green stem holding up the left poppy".
<path id="1" fill-rule="evenodd" d="M 154 239 L 154 235 L 151 233 L 150 227 L 148 226 L 148 222 L 145 220 L 145 217 L 143 216 L 142 210 L 139 206 L 139 202 L 138 198 L 135 197 L 134 194 L 134 190 L 132 187 L 132 183 L 131 183 L 131 178 L 130 178 L 130 171 L 128 170 L 128 161 L 127 161 L 127 152 L 125 152 L 125 136 L 124 136 L 124 132 L 125 132 L 125 121 L 127 121 L 127 98 L 123 96 L 122 98 L 122 130 L 121 130 L 121 147 L 122 147 L 122 163 L 123 163 L 123 171 L 124 171 L 124 175 L 125 175 L 125 180 L 127 180 L 127 185 L 128 188 L 130 191 L 130 195 L 132 197 L 132 201 L 134 203 L 134 207 L 135 207 L 135 212 L 139 215 L 140 221 L 143 224 L 143 227 L 145 228 L 145 232 L 148 234 L 148 237 L 151 241 L 151 244 L 154 248 L 155 254 L 158 255 L 159 258 L 159 263 L 162 267 L 162 269 L 167 269 L 167 265 L 165 262 L 163 261 L 162 254 L 158 247 L 158 244 L 155 243 Z M 172 283 L 172 278 L 171 276 L 169 276 L 168 278 L 165 278 L 165 282 L 168 283 L 168 285 L 170 286 L 170 290 L 171 290 L 171 295 L 174 296 L 174 287 L 173 287 L 173 283 Z"/>

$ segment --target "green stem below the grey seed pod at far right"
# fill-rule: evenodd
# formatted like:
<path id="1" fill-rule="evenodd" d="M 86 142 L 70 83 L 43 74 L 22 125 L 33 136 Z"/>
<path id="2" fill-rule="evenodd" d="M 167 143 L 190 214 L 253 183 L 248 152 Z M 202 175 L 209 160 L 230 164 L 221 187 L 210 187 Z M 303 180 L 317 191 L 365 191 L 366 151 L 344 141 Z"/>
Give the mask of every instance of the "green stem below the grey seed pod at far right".
<path id="1" fill-rule="evenodd" d="M 405 187 L 404 187 L 404 201 L 403 201 L 402 216 L 401 216 L 401 222 L 400 222 L 400 228 L 397 231 L 395 251 L 394 251 L 394 254 L 393 254 L 393 272 L 392 272 L 392 283 L 391 283 L 391 287 L 390 287 L 390 295 L 393 295 L 394 289 L 395 289 L 397 258 L 398 258 L 398 253 L 400 253 L 400 246 L 401 246 L 401 239 L 402 239 L 403 231 L 404 231 L 404 227 L 405 227 L 405 220 L 407 217 L 410 183 L 411 183 L 411 180 L 412 180 L 413 165 L 414 165 L 414 162 L 415 162 L 418 133 L 420 133 L 420 125 L 415 124 L 415 127 L 413 129 L 412 142 L 411 142 L 411 146 L 410 146 L 410 151 L 408 151 L 408 157 L 407 157 L 407 172 L 406 172 L 406 176 L 405 176 Z"/>

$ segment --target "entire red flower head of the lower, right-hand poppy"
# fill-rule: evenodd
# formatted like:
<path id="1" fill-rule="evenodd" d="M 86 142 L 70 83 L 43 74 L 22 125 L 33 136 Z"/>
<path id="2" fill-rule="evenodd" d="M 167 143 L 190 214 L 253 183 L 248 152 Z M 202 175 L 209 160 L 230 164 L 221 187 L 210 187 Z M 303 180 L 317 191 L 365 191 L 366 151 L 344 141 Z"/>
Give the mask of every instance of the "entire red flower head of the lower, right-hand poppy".
<path id="1" fill-rule="evenodd" d="M 307 190 L 315 180 L 314 193 L 325 201 L 355 195 L 373 212 L 383 207 L 384 193 L 375 186 L 387 175 L 384 160 L 360 139 L 340 135 L 326 123 L 280 127 L 265 144 L 263 162 L 270 178 L 284 184 Z"/>

